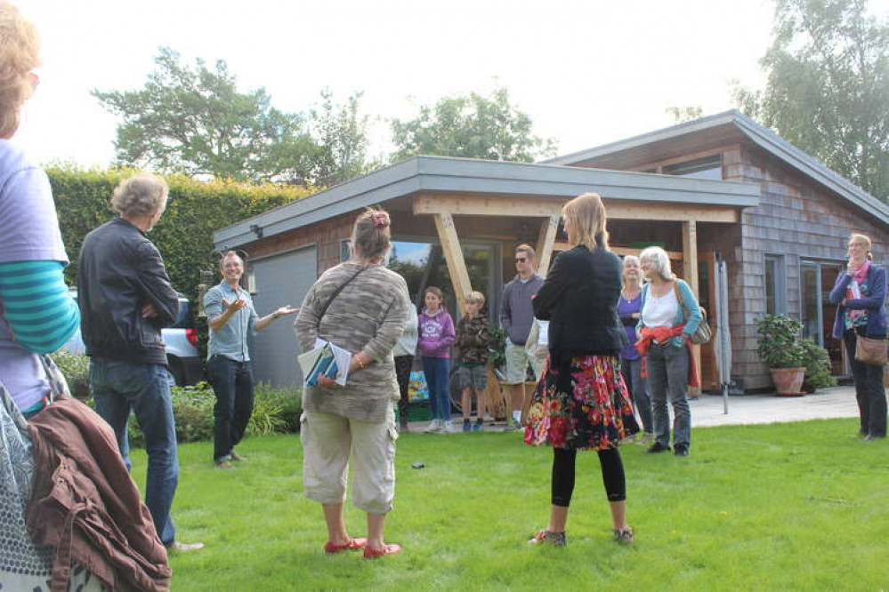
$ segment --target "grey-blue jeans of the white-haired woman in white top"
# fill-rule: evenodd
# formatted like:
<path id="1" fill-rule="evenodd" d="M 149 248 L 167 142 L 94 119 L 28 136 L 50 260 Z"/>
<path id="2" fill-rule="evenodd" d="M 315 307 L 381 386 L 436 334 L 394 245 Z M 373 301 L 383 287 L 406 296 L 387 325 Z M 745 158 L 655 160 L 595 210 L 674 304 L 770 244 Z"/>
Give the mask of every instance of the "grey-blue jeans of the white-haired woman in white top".
<path id="1" fill-rule="evenodd" d="M 691 409 L 688 400 L 689 352 L 684 345 L 671 341 L 651 344 L 645 356 L 648 386 L 651 389 L 651 411 L 654 415 L 654 439 L 670 445 L 670 414 L 667 397 L 673 405 L 673 445 L 691 445 Z"/>

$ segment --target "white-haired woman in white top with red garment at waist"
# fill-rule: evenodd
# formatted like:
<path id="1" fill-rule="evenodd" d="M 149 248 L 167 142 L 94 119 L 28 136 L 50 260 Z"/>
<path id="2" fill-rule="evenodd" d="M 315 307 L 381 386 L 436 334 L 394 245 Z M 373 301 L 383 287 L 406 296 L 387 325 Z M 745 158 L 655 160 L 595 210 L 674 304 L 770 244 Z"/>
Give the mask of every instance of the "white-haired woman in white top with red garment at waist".
<path id="1" fill-rule="evenodd" d="M 642 317 L 636 326 L 641 340 L 637 348 L 645 356 L 654 416 L 654 444 L 645 452 L 670 450 L 670 416 L 673 406 L 673 452 L 691 452 L 691 409 L 688 387 L 695 384 L 691 335 L 703 316 L 689 284 L 675 277 L 670 259 L 660 247 L 648 247 L 639 255 L 646 284 L 642 290 Z M 690 380 L 691 378 L 691 380 Z"/>

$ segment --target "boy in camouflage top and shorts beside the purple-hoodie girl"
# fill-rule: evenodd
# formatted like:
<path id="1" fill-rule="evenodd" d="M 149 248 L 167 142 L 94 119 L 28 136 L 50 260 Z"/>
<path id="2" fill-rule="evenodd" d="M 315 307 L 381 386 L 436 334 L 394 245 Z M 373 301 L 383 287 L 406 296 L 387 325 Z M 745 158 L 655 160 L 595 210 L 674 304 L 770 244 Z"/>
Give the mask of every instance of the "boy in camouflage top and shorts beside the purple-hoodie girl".
<path id="1" fill-rule="evenodd" d="M 465 316 L 457 323 L 457 388 L 463 393 L 463 431 L 480 431 L 484 426 L 485 397 L 488 387 L 488 318 L 481 313 L 485 296 L 481 292 L 469 292 L 464 307 Z M 476 399 L 476 419 L 473 428 L 470 416 L 473 412 L 473 390 Z"/>

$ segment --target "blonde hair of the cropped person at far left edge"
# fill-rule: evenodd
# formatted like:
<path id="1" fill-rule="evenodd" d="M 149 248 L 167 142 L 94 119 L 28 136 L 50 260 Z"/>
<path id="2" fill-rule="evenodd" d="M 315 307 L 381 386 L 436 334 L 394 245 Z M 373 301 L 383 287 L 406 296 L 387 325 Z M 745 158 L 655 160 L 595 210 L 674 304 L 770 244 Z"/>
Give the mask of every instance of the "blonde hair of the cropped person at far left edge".
<path id="1" fill-rule="evenodd" d="M 28 72 L 40 65 L 39 49 L 34 25 L 0 0 L 0 138 L 19 129 L 21 105 L 32 92 Z"/>

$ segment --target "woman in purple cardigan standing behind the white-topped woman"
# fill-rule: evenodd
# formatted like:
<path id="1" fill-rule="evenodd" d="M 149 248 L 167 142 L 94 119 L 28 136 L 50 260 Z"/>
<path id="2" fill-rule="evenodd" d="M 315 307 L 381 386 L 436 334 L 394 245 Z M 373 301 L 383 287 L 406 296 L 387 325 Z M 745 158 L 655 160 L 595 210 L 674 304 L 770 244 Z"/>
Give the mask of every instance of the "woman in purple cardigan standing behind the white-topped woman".
<path id="1" fill-rule="evenodd" d="M 629 342 L 620 350 L 620 372 L 624 375 L 626 390 L 633 399 L 639 419 L 645 431 L 637 444 L 643 446 L 654 442 L 654 421 L 651 419 L 651 396 L 648 391 L 648 380 L 643 376 L 642 356 L 634 347 L 636 340 L 636 324 L 642 317 L 642 282 L 639 271 L 639 258 L 626 255 L 621 268 L 620 300 L 618 316 L 624 325 L 626 338 Z"/>

